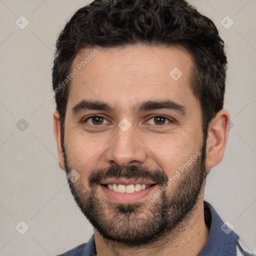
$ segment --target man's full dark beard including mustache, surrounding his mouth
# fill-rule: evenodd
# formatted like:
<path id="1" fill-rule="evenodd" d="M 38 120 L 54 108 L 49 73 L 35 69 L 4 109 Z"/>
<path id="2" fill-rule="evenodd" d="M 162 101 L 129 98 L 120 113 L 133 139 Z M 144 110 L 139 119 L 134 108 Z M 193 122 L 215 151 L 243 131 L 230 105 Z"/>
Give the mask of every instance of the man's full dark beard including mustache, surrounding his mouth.
<path id="1" fill-rule="evenodd" d="M 183 228 L 182 223 L 193 215 L 206 178 L 205 150 L 204 141 L 198 158 L 164 191 L 160 188 L 168 182 L 166 173 L 138 165 L 94 169 L 86 186 L 81 179 L 74 183 L 67 180 L 76 204 L 106 241 L 129 247 L 146 245 L 168 234 L 177 235 Z M 69 166 L 67 158 L 64 150 L 66 174 L 75 169 Z M 133 203 L 104 199 L 99 192 L 100 180 L 109 177 L 150 179 L 158 185 L 159 197 Z"/>

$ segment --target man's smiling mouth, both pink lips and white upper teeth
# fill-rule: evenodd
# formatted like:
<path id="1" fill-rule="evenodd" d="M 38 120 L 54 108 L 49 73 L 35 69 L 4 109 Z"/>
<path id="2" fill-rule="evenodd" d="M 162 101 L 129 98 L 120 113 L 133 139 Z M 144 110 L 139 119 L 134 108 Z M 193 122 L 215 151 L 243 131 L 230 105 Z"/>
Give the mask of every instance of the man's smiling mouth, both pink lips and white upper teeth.
<path id="1" fill-rule="evenodd" d="M 148 195 L 157 184 L 152 181 L 135 179 L 107 179 L 101 181 L 100 187 L 105 195 L 115 201 L 135 201 Z"/>

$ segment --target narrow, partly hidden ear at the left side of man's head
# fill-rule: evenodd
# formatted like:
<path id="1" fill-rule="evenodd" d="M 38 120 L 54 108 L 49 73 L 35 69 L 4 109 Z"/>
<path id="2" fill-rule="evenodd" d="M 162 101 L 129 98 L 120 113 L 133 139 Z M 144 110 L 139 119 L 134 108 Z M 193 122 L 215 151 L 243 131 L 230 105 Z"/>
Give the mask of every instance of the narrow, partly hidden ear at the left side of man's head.
<path id="1" fill-rule="evenodd" d="M 54 135 L 57 142 L 57 151 L 58 151 L 58 158 L 59 158 L 59 167 L 62 170 L 65 170 L 64 165 L 64 156 L 62 151 L 62 145 L 61 145 L 61 132 L 60 132 L 60 120 L 59 120 L 59 113 L 58 111 L 53 112 L 53 130 Z"/>

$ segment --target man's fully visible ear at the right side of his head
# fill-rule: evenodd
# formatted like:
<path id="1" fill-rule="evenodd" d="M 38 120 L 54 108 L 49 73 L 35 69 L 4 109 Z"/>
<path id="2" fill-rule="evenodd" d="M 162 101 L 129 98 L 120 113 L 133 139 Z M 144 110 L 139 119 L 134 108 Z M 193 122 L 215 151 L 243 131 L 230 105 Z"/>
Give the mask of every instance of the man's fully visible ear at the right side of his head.
<path id="1" fill-rule="evenodd" d="M 217 112 L 210 121 L 206 144 L 206 168 L 217 165 L 223 158 L 229 129 L 229 113 L 225 109 Z"/>

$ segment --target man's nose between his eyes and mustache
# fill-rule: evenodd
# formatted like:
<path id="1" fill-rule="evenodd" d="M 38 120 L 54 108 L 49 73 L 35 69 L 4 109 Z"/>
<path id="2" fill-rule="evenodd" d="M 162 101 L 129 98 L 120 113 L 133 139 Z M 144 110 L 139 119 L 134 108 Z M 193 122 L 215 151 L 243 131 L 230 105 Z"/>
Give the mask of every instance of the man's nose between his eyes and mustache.
<path id="1" fill-rule="evenodd" d="M 126 131 L 117 126 L 115 135 L 109 141 L 105 156 L 111 165 L 141 164 L 146 160 L 146 148 L 132 126 Z"/>

